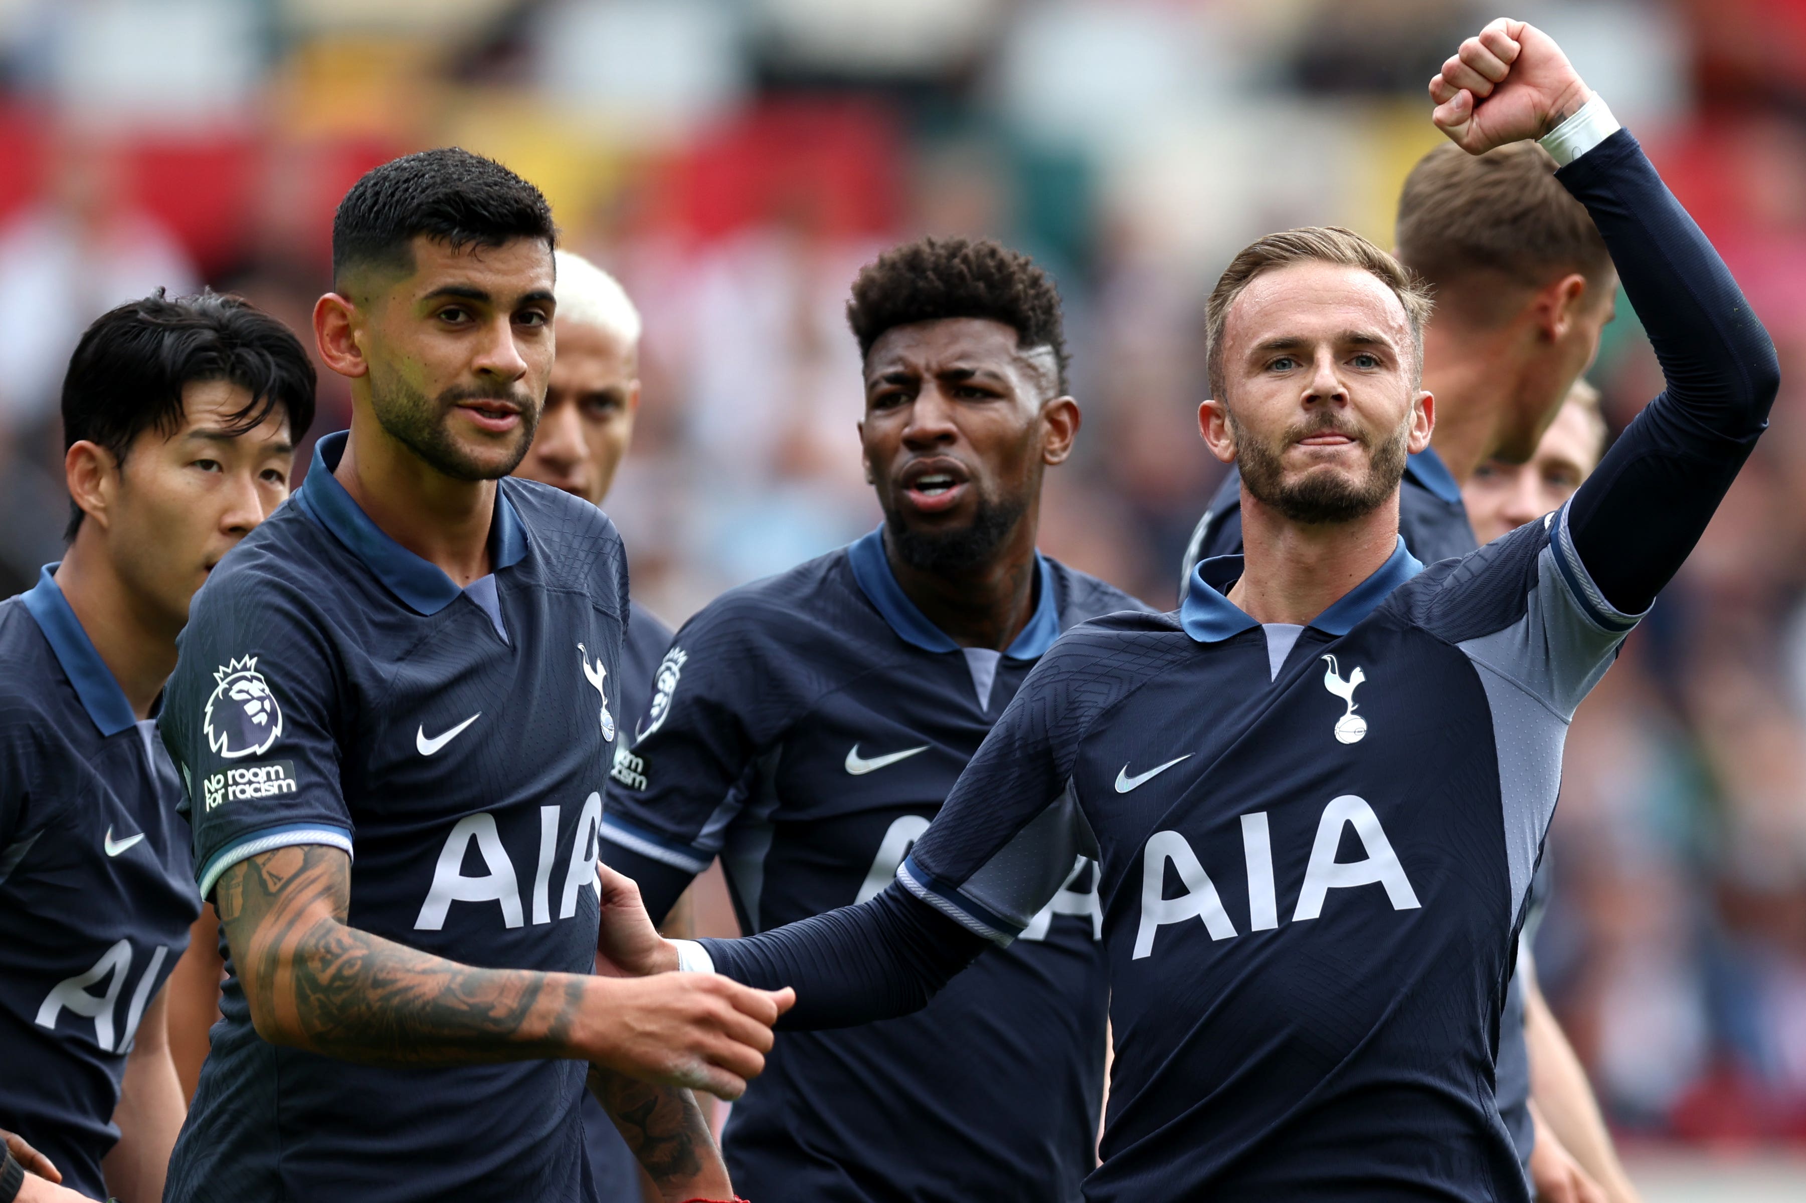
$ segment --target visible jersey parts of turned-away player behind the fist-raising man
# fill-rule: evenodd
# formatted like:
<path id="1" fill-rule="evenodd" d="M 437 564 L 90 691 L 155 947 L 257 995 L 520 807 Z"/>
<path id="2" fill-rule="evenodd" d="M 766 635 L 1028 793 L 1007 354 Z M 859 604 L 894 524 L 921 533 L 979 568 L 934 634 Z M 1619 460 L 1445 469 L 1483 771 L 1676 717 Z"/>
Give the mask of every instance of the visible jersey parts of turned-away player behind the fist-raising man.
<path id="1" fill-rule="evenodd" d="M 1438 559 L 1466 556 L 1479 541 L 1466 518 L 1466 505 L 1461 501 L 1461 485 L 1436 455 L 1434 447 L 1425 447 L 1405 460 L 1405 478 L 1398 487 L 1398 534 L 1420 563 L 1432 565 Z M 1179 597 L 1190 590 L 1190 574 L 1199 559 L 1214 556 L 1241 556 L 1241 473 L 1230 467 L 1228 478 L 1210 500 L 1210 509 L 1197 519 L 1192 543 L 1185 552 Z M 1544 873 L 1539 869 L 1539 882 Z M 1544 884 L 1546 886 L 1546 884 Z M 1530 1163 L 1530 1152 L 1537 1143 L 1537 1129 L 1530 1120 L 1530 1053 L 1524 1048 L 1524 987 L 1517 974 L 1504 996 L 1504 1021 L 1499 1026 L 1499 1064 L 1497 1064 L 1499 1115 L 1512 1133 L 1517 1158 Z"/>

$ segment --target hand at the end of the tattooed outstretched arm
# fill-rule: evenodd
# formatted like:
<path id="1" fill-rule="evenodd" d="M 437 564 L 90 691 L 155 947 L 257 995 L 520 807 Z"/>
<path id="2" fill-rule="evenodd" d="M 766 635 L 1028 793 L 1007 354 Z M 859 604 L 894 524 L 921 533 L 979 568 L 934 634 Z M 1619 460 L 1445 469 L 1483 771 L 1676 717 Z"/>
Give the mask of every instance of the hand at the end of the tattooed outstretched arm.
<path id="1" fill-rule="evenodd" d="M 771 1051 L 771 1024 L 796 992 L 755 990 L 719 974 L 598 981 L 607 1006 L 582 1041 L 598 1066 L 641 1082 L 706 1089 L 733 1102 Z"/>

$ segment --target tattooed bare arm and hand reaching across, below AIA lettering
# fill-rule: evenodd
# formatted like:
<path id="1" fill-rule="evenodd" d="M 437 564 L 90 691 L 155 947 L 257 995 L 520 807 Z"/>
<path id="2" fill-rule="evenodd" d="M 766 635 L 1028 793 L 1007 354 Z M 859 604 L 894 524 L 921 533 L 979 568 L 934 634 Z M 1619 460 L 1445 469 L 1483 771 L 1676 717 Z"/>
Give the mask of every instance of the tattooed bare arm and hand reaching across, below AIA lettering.
<path id="1" fill-rule="evenodd" d="M 258 1035 L 345 1061 L 578 1059 L 726 1098 L 771 1048 L 782 999 L 703 976 L 477 969 L 345 923 L 350 860 L 278 848 L 219 878 L 215 905 Z"/>

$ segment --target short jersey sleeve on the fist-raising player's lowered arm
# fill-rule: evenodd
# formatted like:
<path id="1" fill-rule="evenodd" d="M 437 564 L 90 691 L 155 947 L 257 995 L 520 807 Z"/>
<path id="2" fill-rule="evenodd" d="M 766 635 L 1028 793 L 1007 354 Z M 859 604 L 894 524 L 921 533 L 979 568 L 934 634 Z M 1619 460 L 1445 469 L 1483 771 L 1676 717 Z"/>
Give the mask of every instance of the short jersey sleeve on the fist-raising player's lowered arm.
<path id="1" fill-rule="evenodd" d="M 1060 891 L 1073 860 L 1098 855 L 1071 776 L 1093 721 L 1132 678 L 1112 669 L 1120 638 L 1084 624 L 1047 649 L 905 859 L 905 889 L 1010 943 Z"/>

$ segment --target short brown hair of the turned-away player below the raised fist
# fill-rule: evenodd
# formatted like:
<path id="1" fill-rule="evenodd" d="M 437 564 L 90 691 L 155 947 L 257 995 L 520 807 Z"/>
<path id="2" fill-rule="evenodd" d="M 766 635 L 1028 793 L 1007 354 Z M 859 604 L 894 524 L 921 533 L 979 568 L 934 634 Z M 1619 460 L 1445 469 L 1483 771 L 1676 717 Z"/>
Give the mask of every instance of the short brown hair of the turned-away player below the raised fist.
<path id="1" fill-rule="evenodd" d="M 1443 142 L 1410 170 L 1398 197 L 1398 258 L 1436 290 L 1445 308 L 1485 312 L 1494 289 L 1457 289 L 1476 276 L 1504 276 L 1541 289 L 1580 272 L 1611 278 L 1611 253 L 1586 207 L 1555 179 L 1555 161 L 1535 142 L 1470 155 Z"/>

